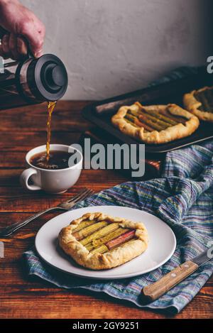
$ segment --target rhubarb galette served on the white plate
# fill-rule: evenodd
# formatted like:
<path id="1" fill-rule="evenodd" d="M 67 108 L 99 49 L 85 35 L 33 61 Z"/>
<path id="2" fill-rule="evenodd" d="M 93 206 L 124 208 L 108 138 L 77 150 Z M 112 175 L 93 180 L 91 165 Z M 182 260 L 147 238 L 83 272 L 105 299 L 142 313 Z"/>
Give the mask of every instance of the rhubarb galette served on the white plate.
<path id="1" fill-rule="evenodd" d="M 148 234 L 142 222 L 95 212 L 84 214 L 63 228 L 59 244 L 81 266 L 108 269 L 143 253 Z"/>

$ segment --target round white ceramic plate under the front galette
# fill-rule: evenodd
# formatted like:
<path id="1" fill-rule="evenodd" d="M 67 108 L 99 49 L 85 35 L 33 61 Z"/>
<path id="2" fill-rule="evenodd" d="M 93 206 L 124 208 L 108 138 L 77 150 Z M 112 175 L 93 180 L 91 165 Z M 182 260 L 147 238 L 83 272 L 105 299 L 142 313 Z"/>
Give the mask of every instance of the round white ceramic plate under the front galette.
<path id="1" fill-rule="evenodd" d="M 129 263 L 109 270 L 92 271 L 79 266 L 58 246 L 58 234 L 62 227 L 67 226 L 73 219 L 81 217 L 86 212 L 103 212 L 114 217 L 143 222 L 148 230 L 148 249 Z M 161 219 L 138 209 L 120 206 L 86 207 L 60 214 L 44 224 L 35 238 L 35 248 L 39 256 L 51 266 L 84 278 L 103 280 L 130 278 L 153 271 L 173 256 L 175 247 L 175 234 Z"/>

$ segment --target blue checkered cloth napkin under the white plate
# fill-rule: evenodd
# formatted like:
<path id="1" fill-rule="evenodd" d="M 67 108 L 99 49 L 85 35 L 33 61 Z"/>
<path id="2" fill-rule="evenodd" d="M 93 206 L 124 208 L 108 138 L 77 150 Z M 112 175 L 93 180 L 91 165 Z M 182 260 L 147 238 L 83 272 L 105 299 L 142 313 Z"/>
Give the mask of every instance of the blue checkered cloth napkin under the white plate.
<path id="1" fill-rule="evenodd" d="M 177 73 L 180 77 L 180 71 Z M 115 204 L 142 209 L 160 217 L 173 229 L 178 240 L 177 249 L 167 263 L 136 278 L 103 282 L 61 273 L 40 260 L 35 250 L 31 249 L 24 253 L 28 274 L 37 275 L 61 288 L 84 288 L 104 292 L 111 297 L 129 300 L 138 307 L 143 307 L 140 294 L 145 285 L 154 283 L 180 263 L 192 259 L 208 248 L 213 234 L 212 199 L 213 141 L 171 151 L 165 158 L 161 178 L 126 182 L 99 192 L 75 206 L 77 209 Z M 158 246 L 160 251 L 160 244 Z M 212 271 L 213 262 L 209 261 L 146 307 L 180 312 L 199 292 Z"/>

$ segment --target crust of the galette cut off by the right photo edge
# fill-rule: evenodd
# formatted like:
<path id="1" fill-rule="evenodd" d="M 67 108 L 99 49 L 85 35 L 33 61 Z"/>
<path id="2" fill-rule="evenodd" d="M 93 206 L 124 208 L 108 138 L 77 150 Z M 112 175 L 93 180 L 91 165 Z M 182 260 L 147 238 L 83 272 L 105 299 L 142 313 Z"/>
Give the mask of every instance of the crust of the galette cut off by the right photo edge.
<path id="1" fill-rule="evenodd" d="M 188 94 L 185 94 L 183 97 L 183 104 L 185 108 L 195 114 L 202 121 L 213 121 L 213 112 L 202 111 L 199 108 L 202 107 L 202 102 L 196 99 L 195 94 L 197 92 L 204 92 L 206 90 L 212 90 L 212 87 L 203 87 L 199 90 L 193 90 Z"/>

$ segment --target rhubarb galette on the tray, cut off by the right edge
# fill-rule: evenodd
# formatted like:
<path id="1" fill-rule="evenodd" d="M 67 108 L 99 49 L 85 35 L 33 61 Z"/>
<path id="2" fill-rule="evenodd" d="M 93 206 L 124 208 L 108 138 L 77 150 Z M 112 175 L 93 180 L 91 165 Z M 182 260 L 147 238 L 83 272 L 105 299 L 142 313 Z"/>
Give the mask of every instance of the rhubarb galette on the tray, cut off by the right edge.
<path id="1" fill-rule="evenodd" d="M 183 104 L 199 119 L 213 121 L 213 87 L 204 87 L 185 94 Z"/>

